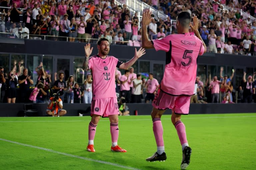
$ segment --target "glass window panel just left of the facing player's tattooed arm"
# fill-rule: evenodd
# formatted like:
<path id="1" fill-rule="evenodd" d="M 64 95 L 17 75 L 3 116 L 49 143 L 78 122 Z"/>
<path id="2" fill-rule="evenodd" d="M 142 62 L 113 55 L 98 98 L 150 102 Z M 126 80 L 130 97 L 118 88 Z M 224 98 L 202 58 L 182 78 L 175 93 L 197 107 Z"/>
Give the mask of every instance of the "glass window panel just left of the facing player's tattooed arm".
<path id="1" fill-rule="evenodd" d="M 75 81 L 79 84 L 81 87 L 84 80 L 86 79 L 87 73 L 90 73 L 90 71 L 84 71 L 82 69 L 84 62 L 84 58 L 75 58 L 74 59 L 74 76 L 75 76 Z"/>

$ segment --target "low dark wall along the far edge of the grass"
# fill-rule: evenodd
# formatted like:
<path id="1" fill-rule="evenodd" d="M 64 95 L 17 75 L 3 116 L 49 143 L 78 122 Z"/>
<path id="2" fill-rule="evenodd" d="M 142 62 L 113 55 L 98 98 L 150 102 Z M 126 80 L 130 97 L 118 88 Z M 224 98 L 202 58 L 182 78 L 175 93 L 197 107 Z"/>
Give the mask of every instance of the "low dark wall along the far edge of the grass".
<path id="1" fill-rule="evenodd" d="M 150 115 L 152 111 L 151 104 L 127 104 L 130 115 L 134 115 L 134 111 L 138 111 L 138 115 Z M 256 104 L 254 103 L 237 103 L 237 104 L 191 104 L 190 114 L 217 114 L 217 113 L 255 113 Z M 33 104 L 37 113 L 27 113 L 27 116 L 47 116 L 47 104 Z M 63 109 L 67 110 L 65 116 L 78 116 L 78 113 L 84 113 L 90 116 L 90 104 L 66 104 Z M 23 117 L 24 103 L 16 104 L 0 104 L 0 117 Z M 167 110 L 165 114 L 170 115 L 171 110 Z"/>

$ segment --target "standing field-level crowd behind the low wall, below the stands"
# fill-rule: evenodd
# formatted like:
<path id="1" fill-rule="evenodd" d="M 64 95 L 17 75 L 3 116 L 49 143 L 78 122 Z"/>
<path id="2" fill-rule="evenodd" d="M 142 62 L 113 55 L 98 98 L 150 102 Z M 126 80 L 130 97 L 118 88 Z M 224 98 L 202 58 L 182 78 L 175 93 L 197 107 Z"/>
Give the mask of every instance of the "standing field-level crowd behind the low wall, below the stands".
<path id="1" fill-rule="evenodd" d="M 91 103 L 92 101 L 92 81 L 90 72 L 87 74 L 82 85 L 75 82 L 73 75 L 65 78 L 65 73 L 59 71 L 54 73 L 52 82 L 51 74 L 44 70 L 43 63 L 35 68 L 37 72 L 37 82 L 33 82 L 31 73 L 27 68 L 23 71 L 18 63 L 19 72 L 16 65 L 11 71 L 4 71 L 0 66 L 0 84 L 1 84 L 1 103 L 15 103 L 16 98 L 20 103 L 45 103 L 58 91 L 63 91 L 60 99 L 64 103 Z M 241 85 L 234 89 L 232 85 L 232 75 L 222 75 L 223 68 L 220 70 L 220 79 L 217 76 L 206 80 L 203 83 L 200 77 L 196 77 L 195 95 L 191 96 L 191 103 L 234 103 L 235 95 L 244 103 L 256 103 L 256 72 L 246 77 L 244 73 Z M 122 75 L 116 69 L 116 94 L 117 97 L 125 103 L 150 103 L 154 100 L 155 94 L 159 89 L 159 82 L 154 78 L 153 73 L 148 75 L 134 73 L 134 68 L 125 70 Z M 66 81 L 65 81 L 66 80 Z M 236 93 L 237 91 L 237 93 Z M 124 103 L 124 102 L 123 102 Z"/>

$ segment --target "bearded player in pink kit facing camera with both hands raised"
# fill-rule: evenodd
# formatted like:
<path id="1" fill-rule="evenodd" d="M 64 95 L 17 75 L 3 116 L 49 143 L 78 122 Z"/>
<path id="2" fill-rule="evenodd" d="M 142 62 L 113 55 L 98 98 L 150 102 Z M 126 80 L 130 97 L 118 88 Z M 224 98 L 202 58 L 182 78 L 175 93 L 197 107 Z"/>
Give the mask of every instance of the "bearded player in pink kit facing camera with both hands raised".
<path id="1" fill-rule="evenodd" d="M 83 62 L 83 70 L 91 70 L 93 77 L 93 97 L 91 104 L 91 122 L 89 123 L 88 130 L 88 146 L 87 151 L 95 152 L 94 149 L 94 136 L 96 127 L 100 117 L 109 117 L 110 120 L 110 133 L 112 138 L 112 151 L 126 152 L 117 145 L 119 128 L 118 128 L 118 115 L 119 109 L 117 104 L 117 97 L 115 91 L 115 73 L 116 67 L 120 69 L 130 68 L 135 61 L 145 54 L 145 49 L 140 48 L 138 51 L 135 48 L 134 57 L 123 63 L 114 56 L 109 56 L 109 41 L 106 38 L 100 38 L 97 42 L 98 54 L 89 58 L 92 53 L 93 47 L 90 43 L 85 45 L 85 59 Z"/>

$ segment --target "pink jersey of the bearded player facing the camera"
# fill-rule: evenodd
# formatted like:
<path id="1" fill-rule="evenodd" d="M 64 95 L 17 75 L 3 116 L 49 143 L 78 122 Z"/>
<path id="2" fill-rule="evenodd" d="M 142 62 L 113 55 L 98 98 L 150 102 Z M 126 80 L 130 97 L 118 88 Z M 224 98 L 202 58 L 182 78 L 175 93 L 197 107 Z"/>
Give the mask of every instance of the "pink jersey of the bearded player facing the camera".
<path id="1" fill-rule="evenodd" d="M 92 70 L 93 100 L 115 97 L 115 73 L 116 67 L 123 62 L 113 56 L 107 56 L 105 59 L 99 55 L 89 58 L 89 69 Z"/>

